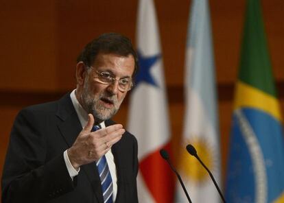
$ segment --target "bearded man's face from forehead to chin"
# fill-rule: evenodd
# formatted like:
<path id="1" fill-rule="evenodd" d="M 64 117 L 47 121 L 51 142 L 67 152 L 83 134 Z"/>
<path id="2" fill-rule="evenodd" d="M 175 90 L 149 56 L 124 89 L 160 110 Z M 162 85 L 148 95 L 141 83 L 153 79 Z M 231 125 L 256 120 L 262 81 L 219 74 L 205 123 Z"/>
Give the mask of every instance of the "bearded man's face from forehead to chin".
<path id="1" fill-rule="evenodd" d="M 86 71 L 80 103 L 83 108 L 92 113 L 95 119 L 104 121 L 115 115 L 119 106 L 126 97 L 127 91 L 119 90 L 118 81 L 111 84 L 102 84 L 97 81 L 98 72 L 108 72 L 117 79 L 129 78 L 131 80 L 134 71 L 134 58 L 118 56 L 113 53 L 99 53 L 92 65 L 93 68 Z"/>

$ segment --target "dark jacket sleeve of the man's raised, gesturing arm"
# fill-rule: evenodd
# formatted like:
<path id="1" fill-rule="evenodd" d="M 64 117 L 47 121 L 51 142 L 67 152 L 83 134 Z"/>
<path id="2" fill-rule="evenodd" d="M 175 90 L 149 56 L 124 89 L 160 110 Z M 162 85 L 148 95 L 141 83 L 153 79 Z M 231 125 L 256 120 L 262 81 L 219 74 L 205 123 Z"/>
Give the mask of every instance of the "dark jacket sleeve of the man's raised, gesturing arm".
<path id="1" fill-rule="evenodd" d="M 44 118 L 30 109 L 17 115 L 10 134 L 2 176 L 2 202 L 46 202 L 72 191 L 63 152 L 46 160 Z"/>

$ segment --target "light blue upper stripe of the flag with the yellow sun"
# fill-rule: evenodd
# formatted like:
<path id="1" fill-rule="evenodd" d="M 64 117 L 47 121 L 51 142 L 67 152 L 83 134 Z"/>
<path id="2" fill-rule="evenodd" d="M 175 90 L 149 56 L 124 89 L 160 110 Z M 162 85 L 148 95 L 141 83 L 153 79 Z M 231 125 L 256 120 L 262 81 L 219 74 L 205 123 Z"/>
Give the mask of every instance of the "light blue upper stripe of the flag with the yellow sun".
<path id="1" fill-rule="evenodd" d="M 219 124 L 216 108 L 215 67 L 210 11 L 207 0 L 193 0 L 188 27 L 187 51 L 192 49 L 193 55 L 190 61 L 191 69 L 187 68 L 186 71 L 185 84 L 187 84 L 187 90 L 185 94 L 188 95 L 189 87 L 191 87 L 200 95 L 202 106 L 205 108 L 204 110 L 215 130 L 217 130 Z M 187 58 L 187 60 L 189 59 Z M 189 99 L 188 96 L 187 99 Z"/>

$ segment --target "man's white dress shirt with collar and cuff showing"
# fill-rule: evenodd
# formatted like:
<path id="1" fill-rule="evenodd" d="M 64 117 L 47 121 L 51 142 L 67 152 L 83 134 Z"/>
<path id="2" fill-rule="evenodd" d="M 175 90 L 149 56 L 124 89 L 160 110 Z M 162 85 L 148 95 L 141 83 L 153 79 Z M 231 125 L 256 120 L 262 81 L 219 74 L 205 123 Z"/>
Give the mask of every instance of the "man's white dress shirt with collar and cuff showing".
<path id="1" fill-rule="evenodd" d="M 86 110 L 84 110 L 84 108 L 81 106 L 78 99 L 76 98 L 75 90 L 72 91 L 70 97 L 83 129 L 84 126 L 86 126 L 86 123 L 88 122 L 88 113 L 86 112 Z M 106 128 L 104 121 L 99 124 L 102 128 Z M 80 168 L 78 171 L 76 171 L 76 169 L 74 169 L 74 167 L 71 165 L 71 162 L 67 154 L 67 150 L 65 150 L 63 156 L 69 175 L 73 180 L 73 178 L 79 174 Z M 113 202 L 115 202 L 117 198 L 117 168 L 115 167 L 115 158 L 113 157 L 111 149 L 108 152 L 106 152 L 105 156 L 106 156 L 106 162 L 108 163 L 108 168 L 110 169 L 110 175 L 113 180 Z"/>

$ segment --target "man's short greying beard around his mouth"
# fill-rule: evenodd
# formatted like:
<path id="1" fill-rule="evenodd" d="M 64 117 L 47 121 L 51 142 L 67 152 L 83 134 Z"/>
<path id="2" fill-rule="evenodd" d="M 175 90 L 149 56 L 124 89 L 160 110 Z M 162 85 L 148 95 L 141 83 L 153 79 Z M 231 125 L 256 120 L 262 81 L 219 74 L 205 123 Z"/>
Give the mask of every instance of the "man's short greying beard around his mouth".
<path id="1" fill-rule="evenodd" d="M 84 82 L 81 100 L 84 103 L 84 109 L 86 112 L 91 113 L 95 118 L 95 123 L 100 123 L 113 117 L 119 110 L 123 99 L 124 97 L 121 99 L 121 101 L 118 101 L 117 95 L 113 95 L 108 91 L 91 95 L 88 82 Z M 104 102 L 112 104 L 112 107 L 108 108 L 104 106 Z"/>

